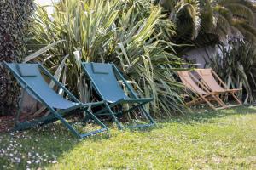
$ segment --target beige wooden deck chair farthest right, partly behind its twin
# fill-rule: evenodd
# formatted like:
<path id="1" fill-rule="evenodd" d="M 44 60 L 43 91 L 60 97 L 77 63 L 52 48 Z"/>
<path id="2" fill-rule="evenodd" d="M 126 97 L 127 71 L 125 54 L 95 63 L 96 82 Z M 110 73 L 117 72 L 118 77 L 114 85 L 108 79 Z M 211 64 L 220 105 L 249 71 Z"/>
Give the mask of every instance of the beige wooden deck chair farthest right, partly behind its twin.
<path id="1" fill-rule="evenodd" d="M 241 91 L 241 88 L 229 89 L 227 85 L 221 80 L 221 78 L 218 77 L 217 73 L 212 69 L 196 69 L 195 71 L 200 76 L 201 82 L 205 84 L 205 86 L 212 92 L 219 94 L 231 94 L 231 96 L 236 100 L 238 104 L 228 105 L 229 107 L 242 105 L 241 100 L 238 99 L 235 95 L 237 92 Z"/>

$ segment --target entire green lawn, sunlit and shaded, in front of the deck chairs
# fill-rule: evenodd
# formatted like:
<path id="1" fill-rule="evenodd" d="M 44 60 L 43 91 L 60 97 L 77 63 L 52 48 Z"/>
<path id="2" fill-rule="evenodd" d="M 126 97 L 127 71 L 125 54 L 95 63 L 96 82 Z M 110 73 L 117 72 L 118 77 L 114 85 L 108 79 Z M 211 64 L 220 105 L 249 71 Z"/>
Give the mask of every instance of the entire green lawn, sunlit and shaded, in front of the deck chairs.
<path id="1" fill-rule="evenodd" d="M 0 169 L 256 169 L 256 108 L 196 111 L 147 131 L 74 139 L 60 123 L 0 135 Z"/>

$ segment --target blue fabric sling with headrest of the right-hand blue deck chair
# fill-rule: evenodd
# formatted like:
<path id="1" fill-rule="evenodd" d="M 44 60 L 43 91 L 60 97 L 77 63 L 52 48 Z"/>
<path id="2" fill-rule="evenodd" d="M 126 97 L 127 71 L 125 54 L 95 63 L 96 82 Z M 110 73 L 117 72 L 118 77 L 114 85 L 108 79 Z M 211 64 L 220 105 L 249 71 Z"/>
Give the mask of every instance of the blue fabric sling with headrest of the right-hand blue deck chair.
<path id="1" fill-rule="evenodd" d="M 113 64 L 82 63 L 82 65 L 102 99 L 111 103 L 119 99 L 128 99 L 114 74 Z"/>

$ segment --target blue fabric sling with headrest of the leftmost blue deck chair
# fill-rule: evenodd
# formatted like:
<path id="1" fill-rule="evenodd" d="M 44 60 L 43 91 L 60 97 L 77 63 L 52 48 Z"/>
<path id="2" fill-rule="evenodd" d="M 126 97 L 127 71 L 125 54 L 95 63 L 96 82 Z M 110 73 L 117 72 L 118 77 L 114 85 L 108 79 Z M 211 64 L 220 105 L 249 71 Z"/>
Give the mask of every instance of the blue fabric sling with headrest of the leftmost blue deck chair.
<path id="1" fill-rule="evenodd" d="M 37 99 L 39 102 L 42 101 L 38 99 L 34 93 L 38 94 L 47 105 L 55 109 L 67 109 L 77 105 L 77 103 L 64 99 L 52 88 L 49 88 L 49 84 L 45 82 L 44 77 L 41 75 L 38 64 L 5 64 L 14 74 L 22 88 L 25 88 L 26 85 L 32 88 L 32 90 L 27 88 L 26 92 L 30 94 L 34 99 Z"/>

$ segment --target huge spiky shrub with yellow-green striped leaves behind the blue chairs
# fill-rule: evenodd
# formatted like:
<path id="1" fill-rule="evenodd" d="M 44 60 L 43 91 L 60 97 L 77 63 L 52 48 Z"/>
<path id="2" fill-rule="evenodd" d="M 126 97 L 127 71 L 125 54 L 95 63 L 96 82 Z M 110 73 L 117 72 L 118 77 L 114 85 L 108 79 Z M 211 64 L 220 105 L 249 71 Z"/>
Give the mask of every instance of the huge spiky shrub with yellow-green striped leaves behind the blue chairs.
<path id="1" fill-rule="evenodd" d="M 37 59 L 50 71 L 57 70 L 55 76 L 84 102 L 89 87 L 80 61 L 113 62 L 139 94 L 154 97 L 148 108 L 155 116 L 170 116 L 183 107 L 178 94 L 182 86 L 173 72 L 182 60 L 166 52 L 172 44 L 161 41 L 155 31 L 164 21 L 161 8 L 149 1 L 63 1 L 52 16 L 38 7 L 30 48 L 64 40 Z"/>

